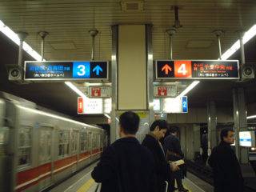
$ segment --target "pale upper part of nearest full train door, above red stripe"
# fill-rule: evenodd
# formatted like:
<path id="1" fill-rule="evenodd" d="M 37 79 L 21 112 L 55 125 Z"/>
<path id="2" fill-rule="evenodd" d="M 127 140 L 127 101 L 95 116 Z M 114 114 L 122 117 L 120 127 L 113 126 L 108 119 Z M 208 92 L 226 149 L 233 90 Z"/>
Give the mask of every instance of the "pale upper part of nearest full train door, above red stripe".
<path id="1" fill-rule="evenodd" d="M 40 127 L 39 135 L 39 159 L 40 164 L 50 162 L 51 160 L 51 130 L 49 126 Z"/>

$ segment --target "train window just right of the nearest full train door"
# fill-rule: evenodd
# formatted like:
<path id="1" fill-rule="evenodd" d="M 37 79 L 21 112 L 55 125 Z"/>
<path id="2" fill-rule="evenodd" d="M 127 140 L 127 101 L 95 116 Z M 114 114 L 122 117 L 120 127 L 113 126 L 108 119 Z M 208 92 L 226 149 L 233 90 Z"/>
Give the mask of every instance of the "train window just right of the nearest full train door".
<path id="1" fill-rule="evenodd" d="M 70 151 L 70 132 L 68 130 L 59 130 L 58 131 L 58 157 L 67 156 Z"/>

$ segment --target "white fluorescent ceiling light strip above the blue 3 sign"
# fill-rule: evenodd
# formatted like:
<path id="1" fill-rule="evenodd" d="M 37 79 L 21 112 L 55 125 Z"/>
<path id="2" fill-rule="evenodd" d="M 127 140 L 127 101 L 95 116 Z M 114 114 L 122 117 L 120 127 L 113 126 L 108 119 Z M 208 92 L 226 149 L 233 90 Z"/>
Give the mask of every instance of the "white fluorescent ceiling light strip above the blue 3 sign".
<path id="1" fill-rule="evenodd" d="M 6 26 L 1 20 L 0 20 L 0 31 L 19 46 L 20 39 L 18 38 L 18 35 L 15 34 L 14 31 L 11 30 L 8 26 Z M 23 48 L 23 50 L 26 51 L 26 53 L 30 54 L 30 56 L 32 58 L 34 58 L 35 60 L 37 60 L 37 61 L 42 60 L 42 56 L 40 54 L 38 54 L 38 52 L 33 50 L 31 48 L 31 46 L 29 46 L 26 42 L 23 42 L 22 48 Z"/>

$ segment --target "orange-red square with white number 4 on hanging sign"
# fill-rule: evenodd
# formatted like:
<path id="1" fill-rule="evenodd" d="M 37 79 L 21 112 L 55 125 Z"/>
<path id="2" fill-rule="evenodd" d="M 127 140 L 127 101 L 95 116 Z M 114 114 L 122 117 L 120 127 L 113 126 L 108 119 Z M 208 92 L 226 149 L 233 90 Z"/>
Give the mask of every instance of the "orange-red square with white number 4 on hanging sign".
<path id="1" fill-rule="evenodd" d="M 191 61 L 174 61 L 175 78 L 192 78 Z"/>

